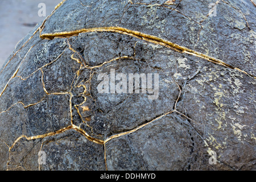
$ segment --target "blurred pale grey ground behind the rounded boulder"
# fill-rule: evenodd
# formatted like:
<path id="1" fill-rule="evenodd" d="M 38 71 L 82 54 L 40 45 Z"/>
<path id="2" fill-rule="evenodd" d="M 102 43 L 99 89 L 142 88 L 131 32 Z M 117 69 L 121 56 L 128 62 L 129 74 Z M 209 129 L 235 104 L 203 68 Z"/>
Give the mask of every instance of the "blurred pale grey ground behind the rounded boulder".
<path id="1" fill-rule="evenodd" d="M 61 0 L 1 0 L 0 1 L 0 69 L 14 47 L 32 28 L 46 17 L 40 17 L 39 3 L 46 4 L 46 16 Z"/>

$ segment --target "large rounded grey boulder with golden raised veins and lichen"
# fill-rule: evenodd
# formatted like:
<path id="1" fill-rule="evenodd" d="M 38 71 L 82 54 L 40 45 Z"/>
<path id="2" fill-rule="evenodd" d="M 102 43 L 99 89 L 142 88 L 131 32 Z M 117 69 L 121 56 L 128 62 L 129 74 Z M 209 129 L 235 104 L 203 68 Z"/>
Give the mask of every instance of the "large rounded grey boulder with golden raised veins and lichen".
<path id="1" fill-rule="evenodd" d="M 255 169 L 255 10 L 63 1 L 1 69 L 0 169 Z M 110 69 L 158 73 L 159 97 L 99 93 Z"/>

